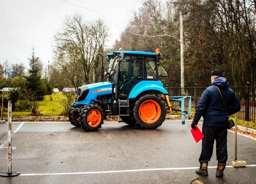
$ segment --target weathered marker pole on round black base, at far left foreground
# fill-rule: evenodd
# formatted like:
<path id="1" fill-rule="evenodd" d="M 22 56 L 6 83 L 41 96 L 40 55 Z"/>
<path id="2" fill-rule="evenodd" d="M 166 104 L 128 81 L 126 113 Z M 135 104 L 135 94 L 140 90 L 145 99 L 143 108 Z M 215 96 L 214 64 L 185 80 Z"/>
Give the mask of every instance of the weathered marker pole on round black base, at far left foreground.
<path id="1" fill-rule="evenodd" d="M 19 172 L 12 171 L 12 103 L 8 102 L 8 172 L 1 172 L 2 177 L 14 177 Z"/>

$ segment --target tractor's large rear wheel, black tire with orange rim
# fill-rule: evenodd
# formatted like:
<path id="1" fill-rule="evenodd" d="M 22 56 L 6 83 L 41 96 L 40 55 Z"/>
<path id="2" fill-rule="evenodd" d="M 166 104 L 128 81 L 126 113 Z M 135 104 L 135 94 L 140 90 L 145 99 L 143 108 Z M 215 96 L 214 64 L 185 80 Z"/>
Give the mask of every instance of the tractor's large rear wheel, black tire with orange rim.
<path id="1" fill-rule="evenodd" d="M 143 94 L 133 104 L 132 116 L 139 128 L 155 129 L 165 121 L 165 103 L 156 94 Z"/>

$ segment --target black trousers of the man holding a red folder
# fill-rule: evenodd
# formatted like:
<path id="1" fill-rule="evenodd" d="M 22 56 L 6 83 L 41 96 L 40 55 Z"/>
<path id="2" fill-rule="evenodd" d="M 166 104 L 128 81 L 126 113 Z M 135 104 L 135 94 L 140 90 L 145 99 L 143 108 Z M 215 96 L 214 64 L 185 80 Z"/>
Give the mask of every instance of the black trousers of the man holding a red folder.
<path id="1" fill-rule="evenodd" d="M 203 126 L 202 151 L 199 162 L 204 163 L 211 160 L 214 140 L 216 140 L 216 155 L 219 163 L 225 164 L 228 159 L 227 151 L 227 128 Z"/>

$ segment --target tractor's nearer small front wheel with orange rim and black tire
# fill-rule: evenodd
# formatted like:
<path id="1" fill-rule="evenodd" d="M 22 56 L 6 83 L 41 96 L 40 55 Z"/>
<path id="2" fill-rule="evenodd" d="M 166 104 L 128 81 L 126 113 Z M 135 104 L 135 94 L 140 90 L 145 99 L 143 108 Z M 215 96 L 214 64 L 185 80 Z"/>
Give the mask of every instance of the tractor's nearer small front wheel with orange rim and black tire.
<path id="1" fill-rule="evenodd" d="M 86 105 L 81 112 L 81 125 L 87 132 L 98 131 L 103 124 L 104 113 L 102 108 L 97 104 Z"/>

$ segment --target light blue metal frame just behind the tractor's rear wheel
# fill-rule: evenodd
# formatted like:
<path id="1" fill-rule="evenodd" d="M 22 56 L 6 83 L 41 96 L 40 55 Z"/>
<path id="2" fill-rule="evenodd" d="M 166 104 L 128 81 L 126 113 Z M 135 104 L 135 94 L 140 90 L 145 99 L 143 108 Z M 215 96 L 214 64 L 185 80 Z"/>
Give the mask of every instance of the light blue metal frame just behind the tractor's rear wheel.
<path id="1" fill-rule="evenodd" d="M 185 110 L 185 98 L 189 99 L 188 111 Z M 185 114 L 187 114 L 187 113 L 188 113 L 188 119 L 190 120 L 190 117 L 191 117 L 191 96 L 169 96 L 169 100 L 171 102 L 180 102 L 181 103 L 181 110 L 180 109 L 173 109 L 173 108 L 172 108 L 172 110 L 181 112 L 182 124 L 185 124 Z"/>

